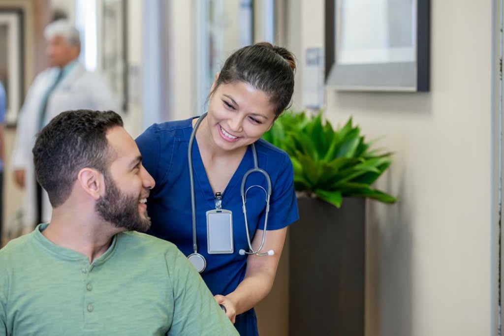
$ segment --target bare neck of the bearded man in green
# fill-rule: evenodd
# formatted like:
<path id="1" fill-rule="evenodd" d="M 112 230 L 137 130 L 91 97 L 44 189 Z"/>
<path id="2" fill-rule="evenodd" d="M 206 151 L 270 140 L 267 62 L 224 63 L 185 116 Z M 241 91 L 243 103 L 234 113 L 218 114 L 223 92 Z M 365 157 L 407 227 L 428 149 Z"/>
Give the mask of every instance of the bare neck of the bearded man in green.
<path id="1" fill-rule="evenodd" d="M 56 245 L 84 254 L 92 263 L 110 247 L 113 236 L 123 230 L 94 214 L 86 217 L 82 213 L 53 209 L 51 222 L 42 234 Z"/>

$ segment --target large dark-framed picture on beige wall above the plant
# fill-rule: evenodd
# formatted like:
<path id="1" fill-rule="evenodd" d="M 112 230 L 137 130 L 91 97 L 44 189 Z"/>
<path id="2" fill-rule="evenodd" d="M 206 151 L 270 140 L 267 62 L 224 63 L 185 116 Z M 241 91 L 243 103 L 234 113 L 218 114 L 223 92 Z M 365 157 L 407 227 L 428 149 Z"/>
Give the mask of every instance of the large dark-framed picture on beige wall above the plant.
<path id="1" fill-rule="evenodd" d="M 326 85 L 428 91 L 430 0 L 326 0 Z"/>

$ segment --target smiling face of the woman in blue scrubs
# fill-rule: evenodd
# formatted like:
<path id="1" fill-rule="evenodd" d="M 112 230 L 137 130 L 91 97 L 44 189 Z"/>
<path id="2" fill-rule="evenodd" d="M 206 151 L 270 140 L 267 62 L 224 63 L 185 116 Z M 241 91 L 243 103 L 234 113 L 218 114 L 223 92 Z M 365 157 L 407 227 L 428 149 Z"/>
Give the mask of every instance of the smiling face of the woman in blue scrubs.
<path id="1" fill-rule="evenodd" d="M 235 150 L 256 142 L 275 120 L 270 96 L 250 84 L 221 84 L 212 93 L 207 122 L 215 144 Z"/>

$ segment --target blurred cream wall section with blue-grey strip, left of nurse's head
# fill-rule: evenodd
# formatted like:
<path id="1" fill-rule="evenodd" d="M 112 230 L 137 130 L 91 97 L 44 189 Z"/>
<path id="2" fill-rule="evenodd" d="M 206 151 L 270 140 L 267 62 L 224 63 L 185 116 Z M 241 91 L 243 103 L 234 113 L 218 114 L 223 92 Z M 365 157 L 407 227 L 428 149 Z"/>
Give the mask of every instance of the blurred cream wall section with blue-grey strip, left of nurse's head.
<path id="1" fill-rule="evenodd" d="M 197 113 L 194 6 L 194 1 L 128 2 L 129 104 L 123 119 L 134 138 L 154 122 Z"/>

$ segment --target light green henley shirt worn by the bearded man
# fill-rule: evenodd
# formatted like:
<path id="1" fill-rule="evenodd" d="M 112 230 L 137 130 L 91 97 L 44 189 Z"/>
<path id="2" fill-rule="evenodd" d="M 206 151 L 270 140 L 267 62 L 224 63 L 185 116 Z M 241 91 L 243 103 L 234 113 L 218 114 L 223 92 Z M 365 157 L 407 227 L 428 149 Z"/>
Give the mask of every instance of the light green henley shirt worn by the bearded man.
<path id="1" fill-rule="evenodd" d="M 91 264 L 48 224 L 0 250 L 0 335 L 237 335 L 175 245 L 116 234 Z"/>

